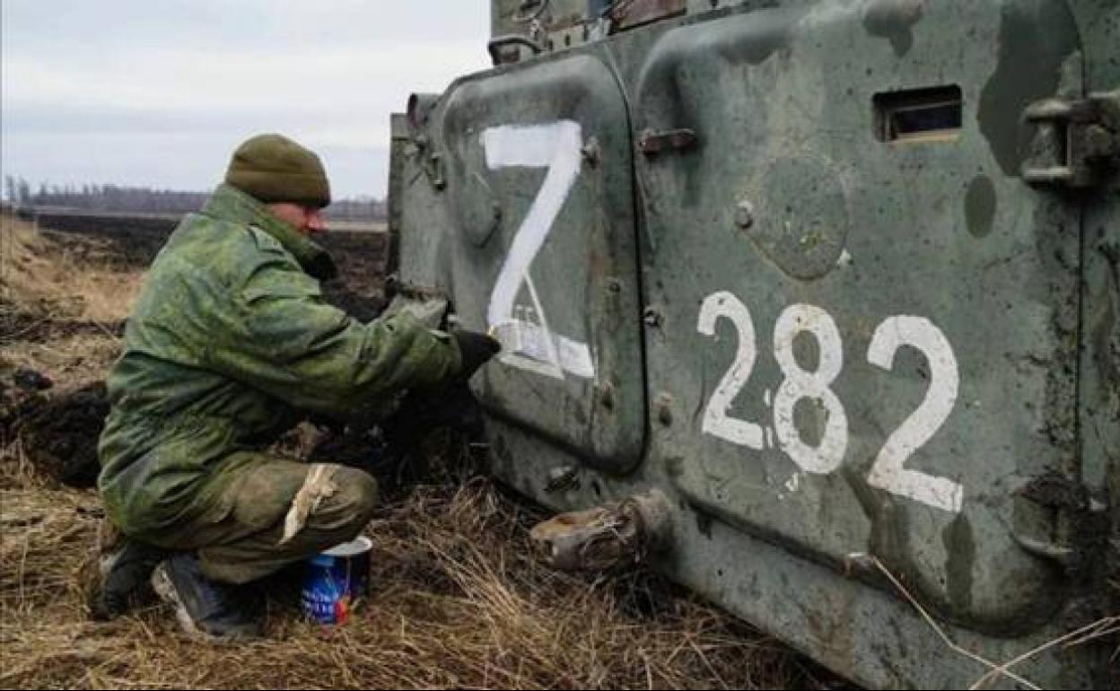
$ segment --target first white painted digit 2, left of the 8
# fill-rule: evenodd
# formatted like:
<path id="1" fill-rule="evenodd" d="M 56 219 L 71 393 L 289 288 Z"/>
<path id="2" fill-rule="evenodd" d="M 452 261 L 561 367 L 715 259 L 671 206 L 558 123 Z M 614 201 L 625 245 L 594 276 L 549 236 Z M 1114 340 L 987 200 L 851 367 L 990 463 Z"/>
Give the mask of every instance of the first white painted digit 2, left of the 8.
<path id="1" fill-rule="evenodd" d="M 731 401 L 747 383 L 750 370 L 755 366 L 755 357 L 758 354 L 755 348 L 755 324 L 750 319 L 747 306 L 726 290 L 711 293 L 700 306 L 697 330 L 706 336 L 715 336 L 716 320 L 720 317 L 727 317 L 735 325 L 739 344 L 731 368 L 724 374 L 724 379 L 719 381 L 716 392 L 708 401 L 708 408 L 703 413 L 703 431 L 732 443 L 762 449 L 763 428 L 727 414 Z"/>

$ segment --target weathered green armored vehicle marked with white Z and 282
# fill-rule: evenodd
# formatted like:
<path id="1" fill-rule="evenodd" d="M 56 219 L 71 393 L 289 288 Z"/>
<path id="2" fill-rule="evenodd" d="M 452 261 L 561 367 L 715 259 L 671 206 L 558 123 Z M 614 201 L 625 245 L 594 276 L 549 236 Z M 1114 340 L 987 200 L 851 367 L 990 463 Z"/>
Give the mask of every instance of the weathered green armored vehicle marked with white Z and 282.
<path id="1" fill-rule="evenodd" d="M 491 11 L 390 214 L 492 471 L 861 684 L 1117 683 L 1118 3 Z"/>

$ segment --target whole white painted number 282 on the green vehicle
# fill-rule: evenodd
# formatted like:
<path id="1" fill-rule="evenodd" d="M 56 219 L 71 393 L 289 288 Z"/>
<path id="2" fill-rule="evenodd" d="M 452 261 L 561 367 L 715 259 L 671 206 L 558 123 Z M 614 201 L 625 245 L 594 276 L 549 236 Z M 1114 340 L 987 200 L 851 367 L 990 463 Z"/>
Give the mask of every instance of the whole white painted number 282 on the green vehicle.
<path id="1" fill-rule="evenodd" d="M 731 367 L 716 386 L 704 409 L 702 430 L 732 443 L 760 450 L 764 448 L 763 435 L 768 430 L 727 413 L 746 385 L 758 355 L 754 320 L 746 305 L 726 290 L 704 299 L 697 330 L 713 336 L 719 317 L 731 321 L 739 342 Z M 793 340 L 800 333 L 811 334 L 816 339 L 819 356 L 812 372 L 802 368 L 793 355 Z M 875 329 L 867 361 L 890 370 L 895 352 L 902 346 L 917 348 L 930 362 L 930 389 L 917 410 L 887 438 L 875 458 L 867 482 L 872 487 L 930 506 L 960 512 L 963 495 L 960 483 L 904 467 L 906 459 L 945 422 L 956 402 L 959 377 L 953 348 L 941 329 L 928 319 L 896 315 Z M 774 396 L 774 432 L 778 445 L 803 470 L 822 475 L 833 473 L 843 463 L 848 449 L 848 415 L 831 389 L 843 368 L 843 344 L 831 315 L 813 305 L 797 304 L 785 308 L 774 325 L 774 358 L 783 375 Z M 819 401 L 824 410 L 824 433 L 815 447 L 801 439 L 794 424 L 793 411 L 802 399 Z M 769 403 L 768 390 L 764 400 Z"/>

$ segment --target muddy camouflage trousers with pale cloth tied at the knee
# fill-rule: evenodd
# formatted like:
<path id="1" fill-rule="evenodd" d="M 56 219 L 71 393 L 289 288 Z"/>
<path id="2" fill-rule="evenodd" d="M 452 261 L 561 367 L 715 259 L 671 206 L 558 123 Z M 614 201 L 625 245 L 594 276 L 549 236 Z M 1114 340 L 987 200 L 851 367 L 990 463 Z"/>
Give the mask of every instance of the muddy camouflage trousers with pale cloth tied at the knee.
<path id="1" fill-rule="evenodd" d="M 246 583 L 354 539 L 377 503 L 364 470 L 254 455 L 206 512 L 176 530 L 174 544 L 196 550 L 203 573 Z"/>

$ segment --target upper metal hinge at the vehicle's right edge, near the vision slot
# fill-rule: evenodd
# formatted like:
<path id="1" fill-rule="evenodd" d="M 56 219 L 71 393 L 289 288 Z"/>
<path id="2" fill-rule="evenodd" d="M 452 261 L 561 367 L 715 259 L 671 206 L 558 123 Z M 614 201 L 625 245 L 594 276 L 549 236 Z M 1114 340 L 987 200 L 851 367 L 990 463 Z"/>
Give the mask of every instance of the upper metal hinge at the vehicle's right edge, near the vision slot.
<path id="1" fill-rule="evenodd" d="M 1023 179 L 1032 185 L 1091 187 L 1120 162 L 1120 90 L 1086 99 L 1046 99 L 1027 106 L 1036 128 Z"/>

